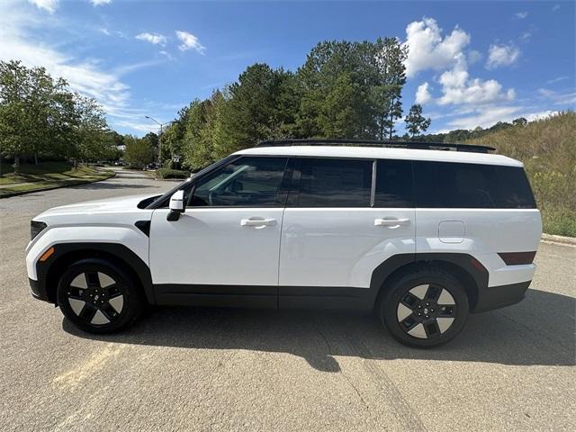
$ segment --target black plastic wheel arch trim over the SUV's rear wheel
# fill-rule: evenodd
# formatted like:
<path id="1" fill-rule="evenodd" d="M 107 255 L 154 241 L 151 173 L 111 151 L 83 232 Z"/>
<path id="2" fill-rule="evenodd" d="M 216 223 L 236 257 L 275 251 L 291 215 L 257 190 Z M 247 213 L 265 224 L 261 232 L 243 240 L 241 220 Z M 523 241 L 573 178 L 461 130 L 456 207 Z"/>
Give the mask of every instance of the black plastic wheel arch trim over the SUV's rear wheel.
<path id="1" fill-rule="evenodd" d="M 488 286 L 488 270 L 473 256 L 458 253 L 401 254 L 387 259 L 373 272 L 370 284 L 374 293 L 373 307 L 395 279 L 425 266 L 441 268 L 455 275 L 468 294 L 470 311 L 474 311 L 479 292 Z"/>

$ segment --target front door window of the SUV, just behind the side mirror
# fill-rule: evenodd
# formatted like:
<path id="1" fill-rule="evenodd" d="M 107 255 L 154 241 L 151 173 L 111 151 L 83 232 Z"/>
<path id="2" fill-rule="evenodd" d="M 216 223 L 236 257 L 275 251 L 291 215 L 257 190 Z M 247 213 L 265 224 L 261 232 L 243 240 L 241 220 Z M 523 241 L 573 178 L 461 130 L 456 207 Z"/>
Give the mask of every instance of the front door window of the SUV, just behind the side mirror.
<path id="1" fill-rule="evenodd" d="M 242 157 L 196 184 L 189 205 L 283 207 L 286 157 Z"/>

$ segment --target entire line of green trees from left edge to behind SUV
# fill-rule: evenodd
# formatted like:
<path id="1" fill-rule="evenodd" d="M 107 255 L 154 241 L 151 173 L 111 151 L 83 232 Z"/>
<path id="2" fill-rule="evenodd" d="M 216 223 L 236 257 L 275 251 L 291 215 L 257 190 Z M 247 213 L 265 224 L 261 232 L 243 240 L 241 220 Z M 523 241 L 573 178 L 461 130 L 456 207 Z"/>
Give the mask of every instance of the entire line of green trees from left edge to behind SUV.
<path id="1" fill-rule="evenodd" d="M 121 136 L 106 123 L 102 106 L 52 78 L 43 67 L 0 62 L 0 158 L 118 157 L 146 166 L 207 166 L 264 139 L 394 139 L 402 118 L 408 51 L 395 38 L 374 42 L 323 41 L 295 71 L 256 63 L 238 80 L 196 99 L 178 112 L 161 137 Z M 412 105 L 404 119 L 418 137 L 430 119 Z M 158 142 L 159 138 L 159 142 Z"/>

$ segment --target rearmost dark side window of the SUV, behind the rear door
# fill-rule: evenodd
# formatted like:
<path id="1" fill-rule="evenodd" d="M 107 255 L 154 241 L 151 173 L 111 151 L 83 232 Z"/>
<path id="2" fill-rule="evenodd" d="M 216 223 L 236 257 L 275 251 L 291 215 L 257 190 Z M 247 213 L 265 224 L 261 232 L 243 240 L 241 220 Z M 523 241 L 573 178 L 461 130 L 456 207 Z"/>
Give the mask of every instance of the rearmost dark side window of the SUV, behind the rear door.
<path id="1" fill-rule="evenodd" d="M 418 207 L 536 208 L 524 169 L 448 162 L 414 162 Z"/>

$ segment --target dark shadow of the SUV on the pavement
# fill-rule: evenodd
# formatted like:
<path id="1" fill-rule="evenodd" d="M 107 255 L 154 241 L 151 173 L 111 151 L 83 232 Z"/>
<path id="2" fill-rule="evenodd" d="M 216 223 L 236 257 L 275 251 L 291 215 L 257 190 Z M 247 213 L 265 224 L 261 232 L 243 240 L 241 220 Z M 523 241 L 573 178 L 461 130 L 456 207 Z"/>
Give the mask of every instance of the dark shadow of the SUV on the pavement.
<path id="1" fill-rule="evenodd" d="M 518 305 L 472 315 L 457 338 L 433 349 L 402 346 L 372 315 L 325 311 L 162 308 L 114 335 L 84 333 L 66 319 L 62 327 L 112 343 L 289 353 L 323 372 L 340 370 L 337 356 L 574 365 L 575 308 L 572 297 L 528 290 Z"/>

